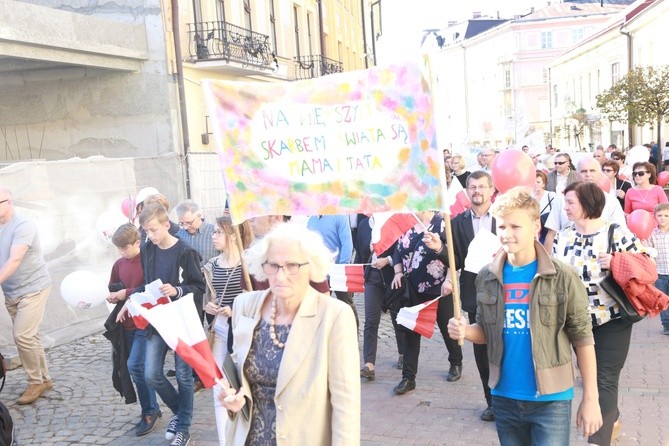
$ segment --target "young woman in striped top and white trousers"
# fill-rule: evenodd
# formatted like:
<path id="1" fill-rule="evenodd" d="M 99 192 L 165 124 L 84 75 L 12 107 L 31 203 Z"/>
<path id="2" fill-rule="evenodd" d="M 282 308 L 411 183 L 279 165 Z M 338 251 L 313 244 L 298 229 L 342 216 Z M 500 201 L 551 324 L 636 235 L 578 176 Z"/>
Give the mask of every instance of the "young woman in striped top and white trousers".
<path id="1" fill-rule="evenodd" d="M 238 234 L 242 248 L 248 248 L 253 241 L 251 224 L 245 221 L 239 225 Z M 233 302 L 244 288 L 242 253 L 237 247 L 236 238 L 230 216 L 224 215 L 217 218 L 211 239 L 214 248 L 220 254 L 209 259 L 202 270 L 207 283 L 204 294 L 204 311 L 210 324 L 210 330 L 214 333 L 211 352 L 219 367 L 223 366 L 225 355 L 232 350 L 232 327 L 229 321 L 232 317 Z M 225 426 L 228 414 L 218 399 L 221 390 L 219 386 L 214 387 L 214 414 L 216 415 L 219 445 L 225 446 Z"/>

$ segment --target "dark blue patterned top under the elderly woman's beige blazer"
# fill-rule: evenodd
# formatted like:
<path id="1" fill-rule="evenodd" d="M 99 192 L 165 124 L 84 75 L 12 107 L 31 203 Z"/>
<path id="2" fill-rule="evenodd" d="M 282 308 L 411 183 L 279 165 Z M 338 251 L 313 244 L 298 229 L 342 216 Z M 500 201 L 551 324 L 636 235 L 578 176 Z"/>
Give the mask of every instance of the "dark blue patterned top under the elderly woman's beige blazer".
<path id="1" fill-rule="evenodd" d="M 285 342 L 291 325 L 274 326 L 276 335 Z M 253 341 L 244 363 L 244 375 L 251 387 L 253 409 L 251 429 L 246 438 L 247 446 L 276 445 L 276 406 L 274 394 L 279 376 L 283 349 L 277 347 L 269 337 L 269 323 L 260 319 L 253 331 Z"/>

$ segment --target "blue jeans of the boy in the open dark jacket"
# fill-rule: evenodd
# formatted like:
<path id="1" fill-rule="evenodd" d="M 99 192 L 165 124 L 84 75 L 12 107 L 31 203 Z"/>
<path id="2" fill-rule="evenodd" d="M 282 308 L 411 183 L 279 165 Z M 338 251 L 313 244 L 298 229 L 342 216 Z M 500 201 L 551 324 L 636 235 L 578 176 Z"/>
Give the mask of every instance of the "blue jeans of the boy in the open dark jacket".
<path id="1" fill-rule="evenodd" d="M 165 376 L 165 356 L 169 348 L 163 338 L 155 331 L 146 340 L 146 362 L 144 363 L 144 375 L 151 387 L 153 387 L 160 399 L 177 415 L 177 432 L 189 432 L 190 423 L 193 419 L 193 369 L 174 354 L 174 369 L 176 371 L 177 385 Z"/>

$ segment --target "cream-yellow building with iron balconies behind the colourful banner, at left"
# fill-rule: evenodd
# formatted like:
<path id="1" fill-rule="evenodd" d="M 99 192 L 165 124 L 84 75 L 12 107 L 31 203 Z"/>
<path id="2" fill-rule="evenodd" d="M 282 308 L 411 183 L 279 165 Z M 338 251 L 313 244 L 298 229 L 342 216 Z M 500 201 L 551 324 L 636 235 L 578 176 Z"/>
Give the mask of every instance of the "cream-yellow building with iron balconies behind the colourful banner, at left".
<path id="1" fill-rule="evenodd" d="M 202 80 L 290 82 L 366 68 L 362 20 L 358 0 L 179 2 L 190 192 L 206 210 L 220 213 L 225 199 Z"/>

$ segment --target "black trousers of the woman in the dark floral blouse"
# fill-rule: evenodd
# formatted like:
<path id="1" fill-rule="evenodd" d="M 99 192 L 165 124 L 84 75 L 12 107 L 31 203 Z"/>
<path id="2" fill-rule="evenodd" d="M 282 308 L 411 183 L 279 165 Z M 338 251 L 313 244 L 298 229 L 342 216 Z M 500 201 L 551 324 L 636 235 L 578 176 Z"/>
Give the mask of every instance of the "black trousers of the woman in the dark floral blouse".
<path id="1" fill-rule="evenodd" d="M 418 295 L 420 302 L 427 302 L 434 299 L 436 296 Z M 446 349 L 448 349 L 448 362 L 453 365 L 462 365 L 462 347 L 458 345 L 458 341 L 454 341 L 448 336 L 448 320 L 453 317 L 453 296 L 448 295 L 439 299 L 437 305 L 437 325 L 441 331 L 441 336 L 444 338 Z M 402 378 L 410 380 L 416 379 L 418 372 L 418 355 L 420 354 L 420 338 L 421 336 L 415 331 L 405 329 L 406 335 L 404 337 L 404 366 L 402 368 Z"/>

